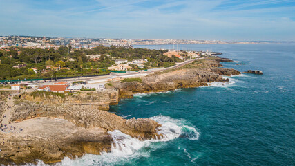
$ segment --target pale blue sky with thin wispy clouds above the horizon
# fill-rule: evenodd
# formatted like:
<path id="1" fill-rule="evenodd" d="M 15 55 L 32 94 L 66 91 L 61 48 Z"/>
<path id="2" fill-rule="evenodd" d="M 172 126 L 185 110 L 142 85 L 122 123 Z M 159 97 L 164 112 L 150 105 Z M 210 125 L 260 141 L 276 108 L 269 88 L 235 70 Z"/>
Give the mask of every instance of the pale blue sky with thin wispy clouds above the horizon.
<path id="1" fill-rule="evenodd" d="M 0 0 L 0 35 L 295 41 L 295 0 Z"/>

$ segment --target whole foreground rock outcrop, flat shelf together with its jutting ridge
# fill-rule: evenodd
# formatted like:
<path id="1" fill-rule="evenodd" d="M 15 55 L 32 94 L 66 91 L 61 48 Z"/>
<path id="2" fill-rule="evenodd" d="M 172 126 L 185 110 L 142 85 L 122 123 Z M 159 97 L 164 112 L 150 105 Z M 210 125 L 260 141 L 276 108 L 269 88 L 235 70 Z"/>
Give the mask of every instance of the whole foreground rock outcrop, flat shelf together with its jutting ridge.
<path id="1" fill-rule="evenodd" d="M 12 108 L 10 122 L 22 131 L 0 133 L 0 159 L 3 164 L 59 162 L 65 156 L 110 151 L 112 138 L 107 131 L 120 130 L 142 140 L 159 138 L 160 124 L 151 119 L 129 119 L 88 105 L 37 104 L 19 102 Z"/>

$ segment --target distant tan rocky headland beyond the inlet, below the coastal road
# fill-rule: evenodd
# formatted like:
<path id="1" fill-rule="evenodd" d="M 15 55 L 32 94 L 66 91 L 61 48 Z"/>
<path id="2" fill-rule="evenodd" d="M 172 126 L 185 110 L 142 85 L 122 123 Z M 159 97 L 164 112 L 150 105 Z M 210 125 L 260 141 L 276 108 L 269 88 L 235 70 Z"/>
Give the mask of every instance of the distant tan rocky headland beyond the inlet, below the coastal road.
<path id="1" fill-rule="evenodd" d="M 113 82 L 120 89 L 120 98 L 133 98 L 133 93 L 173 91 L 179 88 L 206 86 L 208 82 L 227 82 L 221 75 L 237 75 L 226 68 L 190 68 L 142 77 L 142 82 Z"/>

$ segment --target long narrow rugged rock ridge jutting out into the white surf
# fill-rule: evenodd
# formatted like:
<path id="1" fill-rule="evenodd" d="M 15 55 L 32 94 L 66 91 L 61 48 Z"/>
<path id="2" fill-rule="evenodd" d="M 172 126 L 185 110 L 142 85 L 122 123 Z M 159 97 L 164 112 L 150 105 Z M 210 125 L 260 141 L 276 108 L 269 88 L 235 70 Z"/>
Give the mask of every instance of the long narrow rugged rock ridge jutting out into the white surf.
<path id="1" fill-rule="evenodd" d="M 160 124 L 150 119 L 126 120 L 113 113 L 95 109 L 92 106 L 69 104 L 55 104 L 52 106 L 35 102 L 20 102 L 15 105 L 10 120 L 23 121 L 35 117 L 61 118 L 86 129 L 92 127 L 100 127 L 107 131 L 117 129 L 132 137 L 142 139 L 155 138 L 155 129 L 160 126 Z"/>

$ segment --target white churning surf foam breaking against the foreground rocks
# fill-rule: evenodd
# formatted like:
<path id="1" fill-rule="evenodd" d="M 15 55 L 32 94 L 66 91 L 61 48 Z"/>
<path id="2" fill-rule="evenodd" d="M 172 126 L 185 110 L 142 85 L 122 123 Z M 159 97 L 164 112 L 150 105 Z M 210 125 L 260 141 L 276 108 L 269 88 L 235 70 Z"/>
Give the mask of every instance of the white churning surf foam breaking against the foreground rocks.
<path id="1" fill-rule="evenodd" d="M 86 154 L 82 158 L 72 160 L 64 158 L 57 165 L 124 165 L 131 162 L 133 158 L 149 157 L 151 151 L 158 149 L 165 144 L 155 144 L 154 142 L 166 142 L 175 138 L 184 137 L 190 140 L 198 140 L 200 133 L 194 127 L 185 124 L 184 120 L 176 120 L 168 116 L 154 116 L 155 120 L 162 126 L 158 129 L 158 133 L 162 134 L 162 138 L 152 140 L 138 140 L 122 133 L 119 130 L 109 131 L 113 137 L 113 145 L 111 153 L 102 153 L 101 155 Z M 149 149 L 144 149 L 149 147 Z M 196 160 L 195 158 L 192 158 Z"/>

